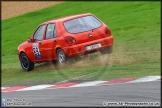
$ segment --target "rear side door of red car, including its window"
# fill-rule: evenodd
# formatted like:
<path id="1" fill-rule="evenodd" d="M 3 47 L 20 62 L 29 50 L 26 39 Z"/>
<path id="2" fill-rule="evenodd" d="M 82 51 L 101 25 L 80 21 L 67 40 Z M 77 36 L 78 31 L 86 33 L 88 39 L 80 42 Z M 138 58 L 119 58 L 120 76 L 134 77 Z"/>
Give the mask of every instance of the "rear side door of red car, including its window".
<path id="1" fill-rule="evenodd" d="M 56 30 L 55 24 L 50 23 L 46 26 L 44 39 L 40 42 L 39 48 L 44 54 L 46 60 L 55 58 Z"/>

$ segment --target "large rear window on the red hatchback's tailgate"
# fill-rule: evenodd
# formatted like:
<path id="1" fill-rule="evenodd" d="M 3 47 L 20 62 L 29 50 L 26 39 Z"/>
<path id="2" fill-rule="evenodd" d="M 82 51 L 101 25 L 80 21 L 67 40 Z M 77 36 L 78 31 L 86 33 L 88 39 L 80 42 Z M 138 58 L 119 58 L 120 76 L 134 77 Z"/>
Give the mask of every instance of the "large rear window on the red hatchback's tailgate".
<path id="1" fill-rule="evenodd" d="M 94 16 L 84 16 L 64 22 L 64 27 L 69 33 L 79 33 L 99 28 L 102 23 Z"/>

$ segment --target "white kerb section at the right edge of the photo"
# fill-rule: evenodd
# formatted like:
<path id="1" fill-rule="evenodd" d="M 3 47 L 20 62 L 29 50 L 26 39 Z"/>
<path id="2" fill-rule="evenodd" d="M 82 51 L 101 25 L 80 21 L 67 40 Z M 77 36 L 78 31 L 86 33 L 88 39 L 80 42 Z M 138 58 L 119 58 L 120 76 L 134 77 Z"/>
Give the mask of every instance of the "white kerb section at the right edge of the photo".
<path id="1" fill-rule="evenodd" d="M 139 79 L 129 81 L 129 82 L 126 82 L 126 83 L 138 83 L 138 82 L 156 81 L 156 80 L 158 80 L 160 78 L 161 78 L 161 76 L 147 76 L 147 77 L 139 78 Z"/>

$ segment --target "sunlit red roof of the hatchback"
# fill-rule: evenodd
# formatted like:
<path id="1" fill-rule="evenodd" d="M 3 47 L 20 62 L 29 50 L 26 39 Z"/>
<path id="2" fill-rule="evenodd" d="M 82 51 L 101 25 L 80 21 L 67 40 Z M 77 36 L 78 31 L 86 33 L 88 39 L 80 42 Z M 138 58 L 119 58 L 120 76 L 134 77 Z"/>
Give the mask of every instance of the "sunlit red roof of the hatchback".
<path id="1" fill-rule="evenodd" d="M 58 21 L 63 21 L 64 22 L 64 21 L 67 21 L 67 20 L 70 20 L 70 19 L 74 19 L 74 18 L 81 17 L 81 16 L 87 16 L 87 15 L 93 15 L 93 14 L 84 13 L 84 14 L 70 15 L 70 16 L 65 16 L 65 17 L 61 17 L 61 18 L 56 18 L 54 20 L 50 20 L 50 21 L 44 22 L 42 24 L 55 23 L 55 22 L 58 22 Z"/>

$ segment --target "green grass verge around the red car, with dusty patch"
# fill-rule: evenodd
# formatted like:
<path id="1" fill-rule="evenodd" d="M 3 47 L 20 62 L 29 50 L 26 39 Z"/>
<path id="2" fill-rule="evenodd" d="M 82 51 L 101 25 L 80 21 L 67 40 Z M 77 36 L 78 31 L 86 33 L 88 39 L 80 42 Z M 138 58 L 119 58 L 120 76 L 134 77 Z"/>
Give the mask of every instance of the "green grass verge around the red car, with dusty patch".
<path id="1" fill-rule="evenodd" d="M 114 53 L 103 61 L 111 63 L 101 66 L 102 59 L 98 64 L 94 64 L 97 60 L 91 60 L 86 61 L 86 68 L 73 64 L 60 70 L 52 65 L 37 64 L 32 72 L 23 72 L 17 57 L 18 45 L 26 41 L 40 23 L 80 13 L 92 13 L 110 27 L 114 36 Z M 160 75 L 160 21 L 160 2 L 153 1 L 68 1 L 3 20 L 2 85 L 55 83 L 92 72 L 95 73 L 80 79 Z"/>

